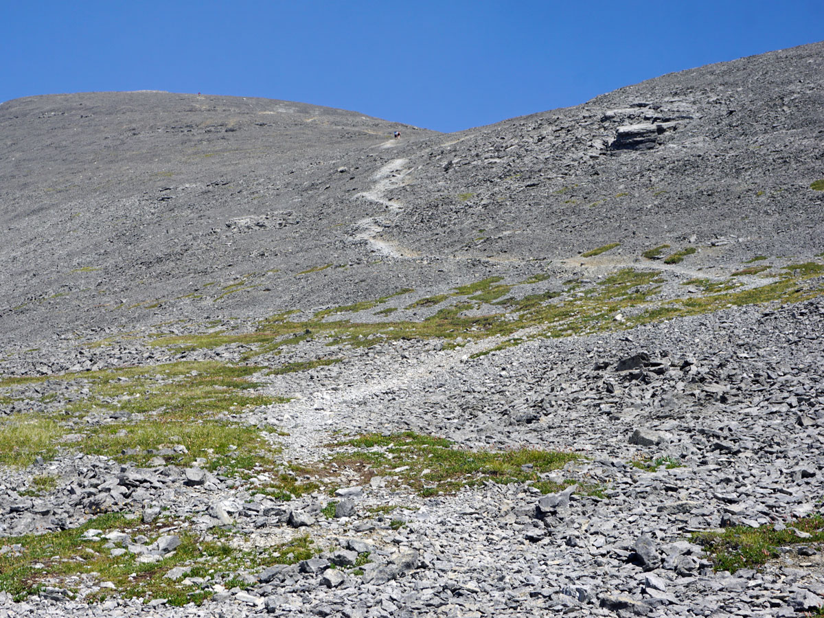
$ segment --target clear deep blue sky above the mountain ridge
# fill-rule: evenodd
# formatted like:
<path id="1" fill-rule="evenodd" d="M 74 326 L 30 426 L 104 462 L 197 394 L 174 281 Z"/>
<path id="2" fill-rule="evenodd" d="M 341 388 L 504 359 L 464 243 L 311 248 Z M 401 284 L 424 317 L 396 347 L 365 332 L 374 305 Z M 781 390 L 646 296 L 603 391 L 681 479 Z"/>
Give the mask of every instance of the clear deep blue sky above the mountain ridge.
<path id="1" fill-rule="evenodd" d="M 0 101 L 263 96 L 455 131 L 824 39 L 824 0 L 0 0 Z"/>

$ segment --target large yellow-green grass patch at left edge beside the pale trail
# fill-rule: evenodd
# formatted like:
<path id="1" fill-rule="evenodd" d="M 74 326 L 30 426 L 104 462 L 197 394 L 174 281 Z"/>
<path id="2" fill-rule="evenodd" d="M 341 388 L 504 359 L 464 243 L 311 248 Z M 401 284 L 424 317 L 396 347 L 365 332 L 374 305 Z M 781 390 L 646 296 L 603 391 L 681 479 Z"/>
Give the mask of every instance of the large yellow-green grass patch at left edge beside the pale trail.
<path id="1" fill-rule="evenodd" d="M 219 416 L 238 414 L 250 406 L 286 401 L 254 392 L 250 381 L 258 367 L 232 366 L 217 361 L 166 363 L 150 367 L 49 376 L 50 382 L 77 382 L 87 394 L 61 410 L 75 421 L 90 413 L 128 412 L 127 421 L 82 430 L 81 442 L 71 447 L 111 456 L 118 461 L 145 464 L 162 449 L 182 444 L 188 453 L 166 453 L 167 462 L 188 465 L 195 457 L 222 457 L 225 465 L 248 467 L 276 450 L 255 428 L 242 428 Z M 46 394 L 49 396 L 49 393 Z M 59 418 L 64 418 L 63 414 Z M 0 463 L 27 466 L 35 456 L 48 459 L 61 446 L 63 435 L 76 431 L 56 419 L 16 414 L 0 420 Z M 235 447 L 238 447 L 235 451 Z M 243 457 L 246 457 L 246 461 Z M 251 459 L 249 457 L 251 456 Z"/>

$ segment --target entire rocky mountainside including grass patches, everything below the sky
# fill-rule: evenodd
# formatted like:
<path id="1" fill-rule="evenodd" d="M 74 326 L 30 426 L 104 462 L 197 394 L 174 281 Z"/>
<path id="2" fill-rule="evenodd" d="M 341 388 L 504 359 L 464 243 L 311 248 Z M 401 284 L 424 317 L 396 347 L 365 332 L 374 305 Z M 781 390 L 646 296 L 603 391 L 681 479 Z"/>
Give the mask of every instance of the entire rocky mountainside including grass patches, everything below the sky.
<path id="1" fill-rule="evenodd" d="M 461 133 L 142 91 L 0 140 L 0 614 L 824 604 L 824 44 Z"/>

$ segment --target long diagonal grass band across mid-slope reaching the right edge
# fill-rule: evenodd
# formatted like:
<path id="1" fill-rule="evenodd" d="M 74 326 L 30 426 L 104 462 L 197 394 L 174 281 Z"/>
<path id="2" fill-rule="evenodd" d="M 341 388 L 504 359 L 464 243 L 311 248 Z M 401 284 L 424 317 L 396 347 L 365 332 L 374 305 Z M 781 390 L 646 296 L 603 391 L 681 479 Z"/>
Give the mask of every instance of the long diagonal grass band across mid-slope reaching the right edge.
<path id="1" fill-rule="evenodd" d="M 686 253 L 694 250 L 686 250 Z M 475 308 L 471 302 L 442 307 L 433 316 L 419 321 L 330 320 L 330 316 L 335 313 L 334 309 L 318 311 L 307 320 L 290 321 L 288 318 L 293 312 L 283 311 L 261 321 L 258 329 L 253 332 L 216 331 L 203 335 L 176 335 L 155 339 L 152 344 L 177 349 L 245 344 L 251 349 L 243 353 L 241 358 L 248 361 L 265 353 L 278 354 L 283 346 L 300 344 L 306 339 L 321 339 L 330 346 L 357 347 L 399 339 L 444 339 L 445 346 L 455 347 L 454 341 L 458 338 L 511 338 L 517 330 L 535 326 L 541 329 L 536 336 L 565 337 L 604 330 L 624 330 L 674 316 L 717 311 L 726 307 L 724 303 L 740 305 L 770 301 L 796 302 L 820 294 L 817 289 L 802 289 L 798 284 L 821 268 L 822 265 L 815 262 L 794 265 L 794 269 L 787 272 L 777 287 L 770 283 L 756 288 L 757 292 L 736 292 L 737 295 L 729 294 L 740 287 L 739 283 L 731 279 L 717 282 L 691 279 L 687 284 L 695 285 L 702 293 L 712 296 L 691 294 L 663 304 L 657 301 L 656 296 L 665 279 L 662 279 L 662 273 L 656 271 L 623 269 L 595 284 L 574 279 L 564 283 L 562 292 L 550 290 L 521 298 L 505 296 L 509 290 L 507 286 L 499 284 L 502 279 L 490 277 L 456 288 L 453 293 L 419 299 L 406 307 L 433 307 L 449 297 L 467 296 L 467 301 L 490 302 L 501 307 L 500 311 L 486 315 L 466 315 L 467 310 Z M 355 308 L 362 307 L 365 305 Z M 618 312 L 631 317 L 625 322 L 616 322 L 613 318 Z M 388 315 L 390 311 L 382 313 Z"/>

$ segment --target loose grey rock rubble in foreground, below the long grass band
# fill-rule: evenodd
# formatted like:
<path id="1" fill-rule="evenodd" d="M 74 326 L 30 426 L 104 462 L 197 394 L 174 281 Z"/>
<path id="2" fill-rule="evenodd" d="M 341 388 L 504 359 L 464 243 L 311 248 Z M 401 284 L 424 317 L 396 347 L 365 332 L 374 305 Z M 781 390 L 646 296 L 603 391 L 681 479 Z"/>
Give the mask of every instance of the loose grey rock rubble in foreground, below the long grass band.
<path id="1" fill-rule="evenodd" d="M 81 536 L 89 555 L 162 564 L 181 536 L 192 534 L 227 538 L 237 552 L 308 536 L 311 551 L 293 564 L 235 563 L 194 577 L 199 563 L 189 559 L 153 575 L 210 593 L 199 607 L 166 608 L 162 598 L 112 598 L 98 606 L 69 600 L 118 592 L 78 567 L 52 585 L 44 578 L 39 595 L 25 602 L 4 597 L 3 611 L 143 615 L 144 602 L 156 616 L 815 610 L 824 602 L 819 548 L 803 541 L 808 533 L 794 521 L 819 513 L 824 484 L 822 332 L 824 302 L 817 299 L 629 332 L 538 339 L 480 358 L 467 358 L 472 348 L 403 342 L 368 349 L 340 370 L 272 378 L 268 388 L 282 391 L 288 377 L 299 397 L 240 419 L 288 432 L 289 438 L 273 435 L 288 443 L 287 458 L 329 456 L 331 428 L 416 430 L 466 447 L 527 443 L 581 453 L 541 475 L 575 485 L 541 495 L 531 483 L 487 482 L 422 498 L 396 487 L 391 473 L 368 482 L 353 475 L 335 479 L 334 495 L 284 501 L 255 491 L 265 485 L 260 477 L 239 482 L 205 466 L 166 465 L 164 456 L 183 447 L 158 451 L 140 467 L 59 456 L 5 475 L 4 535 L 71 528 L 88 513 L 119 510 L 135 519 L 107 531 L 92 524 Z M 379 386 L 347 390 L 340 383 Z M 33 475 L 59 481 L 42 496 L 21 495 Z M 152 532 L 130 532 L 135 521 L 152 524 Z M 786 528 L 802 541 L 761 569 L 715 572 L 691 534 L 733 526 Z M 2 548 L 3 555 L 25 551 L 17 544 Z"/>

